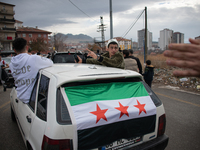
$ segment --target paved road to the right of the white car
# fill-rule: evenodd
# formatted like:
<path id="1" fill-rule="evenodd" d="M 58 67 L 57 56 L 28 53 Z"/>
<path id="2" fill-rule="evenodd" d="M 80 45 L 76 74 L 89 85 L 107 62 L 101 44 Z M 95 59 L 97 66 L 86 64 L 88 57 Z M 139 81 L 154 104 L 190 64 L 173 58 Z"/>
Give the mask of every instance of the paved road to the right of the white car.
<path id="1" fill-rule="evenodd" d="M 166 150 L 200 150 L 200 95 L 153 87 L 166 112 Z"/>

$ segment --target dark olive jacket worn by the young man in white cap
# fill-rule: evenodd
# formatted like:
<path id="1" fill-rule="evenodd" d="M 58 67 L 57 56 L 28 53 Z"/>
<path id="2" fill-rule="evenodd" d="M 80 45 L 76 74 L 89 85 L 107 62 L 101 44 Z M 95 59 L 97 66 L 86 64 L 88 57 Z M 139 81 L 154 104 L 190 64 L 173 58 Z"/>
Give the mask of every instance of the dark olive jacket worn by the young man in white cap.
<path id="1" fill-rule="evenodd" d="M 86 60 L 87 64 L 97 64 L 97 65 L 103 65 L 107 67 L 115 67 L 115 68 L 121 68 L 124 69 L 124 57 L 122 53 L 119 51 L 115 53 L 111 58 L 109 57 L 109 52 L 106 52 L 101 55 L 99 60 L 96 60 L 94 58 L 88 58 Z"/>

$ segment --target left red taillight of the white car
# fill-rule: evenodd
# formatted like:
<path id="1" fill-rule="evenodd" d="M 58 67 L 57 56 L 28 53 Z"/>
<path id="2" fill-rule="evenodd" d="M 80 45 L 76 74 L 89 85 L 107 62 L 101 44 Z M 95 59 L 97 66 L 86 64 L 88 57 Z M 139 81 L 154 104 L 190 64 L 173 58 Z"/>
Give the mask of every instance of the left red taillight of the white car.
<path id="1" fill-rule="evenodd" d="M 48 149 L 73 150 L 72 140 L 71 139 L 54 140 L 44 135 L 42 141 L 42 150 L 48 150 Z"/>

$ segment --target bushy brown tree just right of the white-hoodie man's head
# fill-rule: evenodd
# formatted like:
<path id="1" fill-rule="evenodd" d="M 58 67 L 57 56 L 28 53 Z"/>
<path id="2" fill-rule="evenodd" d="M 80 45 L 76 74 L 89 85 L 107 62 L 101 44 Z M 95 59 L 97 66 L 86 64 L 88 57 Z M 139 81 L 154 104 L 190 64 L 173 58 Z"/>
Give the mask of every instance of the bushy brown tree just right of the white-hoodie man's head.
<path id="1" fill-rule="evenodd" d="M 48 44 L 44 41 L 43 38 L 33 39 L 31 43 L 29 43 L 30 51 L 44 52 L 48 50 Z"/>

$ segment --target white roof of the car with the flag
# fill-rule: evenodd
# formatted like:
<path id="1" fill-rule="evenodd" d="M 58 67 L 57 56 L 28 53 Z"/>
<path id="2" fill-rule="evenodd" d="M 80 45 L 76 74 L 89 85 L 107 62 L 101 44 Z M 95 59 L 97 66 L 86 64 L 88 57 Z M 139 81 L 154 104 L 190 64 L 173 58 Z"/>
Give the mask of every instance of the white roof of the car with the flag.
<path id="1" fill-rule="evenodd" d="M 42 69 L 57 79 L 57 86 L 73 81 L 108 79 L 119 77 L 139 77 L 141 74 L 131 70 L 105 67 L 93 64 L 60 63 L 52 67 Z"/>

